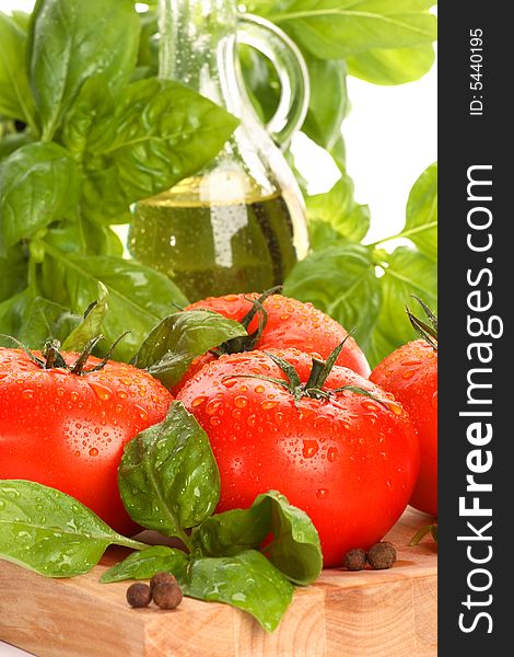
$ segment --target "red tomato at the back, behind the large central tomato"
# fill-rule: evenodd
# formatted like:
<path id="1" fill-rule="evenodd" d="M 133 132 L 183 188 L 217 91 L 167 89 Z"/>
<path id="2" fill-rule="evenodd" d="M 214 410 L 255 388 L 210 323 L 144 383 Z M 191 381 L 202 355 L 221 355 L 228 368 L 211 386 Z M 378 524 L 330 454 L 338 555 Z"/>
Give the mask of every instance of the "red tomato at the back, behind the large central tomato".
<path id="1" fill-rule="evenodd" d="M 210 297 L 188 306 L 186 310 L 206 309 L 241 322 L 246 313 L 252 310 L 249 299 L 258 299 L 259 295 L 229 295 L 226 297 Z M 294 347 L 306 354 L 318 354 L 328 358 L 330 353 L 347 337 L 348 331 L 336 320 L 314 308 L 312 303 L 303 303 L 297 299 L 290 299 L 281 295 L 272 295 L 264 302 L 268 313 L 268 321 L 261 338 L 255 345 L 256 349 L 268 350 L 273 348 L 285 349 Z M 257 330 L 258 320 L 254 318 L 248 326 L 248 333 Z M 212 354 L 197 358 L 179 385 L 172 389 L 176 393 L 203 365 L 215 359 Z M 362 377 L 370 374 L 370 366 L 364 353 L 353 337 L 344 344 L 337 365 L 342 365 L 354 370 Z"/>

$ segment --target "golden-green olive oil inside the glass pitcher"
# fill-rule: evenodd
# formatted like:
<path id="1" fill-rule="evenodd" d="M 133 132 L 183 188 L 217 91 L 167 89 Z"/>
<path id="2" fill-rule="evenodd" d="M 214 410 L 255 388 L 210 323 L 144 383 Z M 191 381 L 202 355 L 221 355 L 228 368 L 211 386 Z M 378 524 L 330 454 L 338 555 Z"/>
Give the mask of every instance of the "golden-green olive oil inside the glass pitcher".
<path id="1" fill-rule="evenodd" d="M 293 221 L 280 193 L 203 203 L 165 192 L 138 203 L 128 247 L 190 301 L 269 289 L 296 262 Z"/>

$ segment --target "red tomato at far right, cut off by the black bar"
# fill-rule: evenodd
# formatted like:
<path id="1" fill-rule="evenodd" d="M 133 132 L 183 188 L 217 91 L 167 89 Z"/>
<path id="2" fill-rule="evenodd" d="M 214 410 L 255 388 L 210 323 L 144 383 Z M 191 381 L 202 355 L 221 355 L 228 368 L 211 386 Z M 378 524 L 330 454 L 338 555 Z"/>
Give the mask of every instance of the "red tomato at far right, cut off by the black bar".
<path id="1" fill-rule="evenodd" d="M 437 351 L 417 339 L 389 354 L 370 379 L 392 392 L 418 431 L 421 465 L 410 504 L 437 515 Z"/>

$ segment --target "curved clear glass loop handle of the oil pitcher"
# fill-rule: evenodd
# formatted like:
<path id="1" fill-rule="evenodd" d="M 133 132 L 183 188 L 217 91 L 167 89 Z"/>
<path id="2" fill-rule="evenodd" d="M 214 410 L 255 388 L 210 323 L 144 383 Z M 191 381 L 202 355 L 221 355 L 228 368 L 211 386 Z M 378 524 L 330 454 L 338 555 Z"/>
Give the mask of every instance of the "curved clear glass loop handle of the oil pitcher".
<path id="1" fill-rule="evenodd" d="M 308 110 L 311 84 L 305 59 L 282 30 L 254 14 L 237 15 L 237 42 L 262 53 L 277 70 L 280 102 L 266 127 L 273 140 L 285 149 L 302 127 Z"/>

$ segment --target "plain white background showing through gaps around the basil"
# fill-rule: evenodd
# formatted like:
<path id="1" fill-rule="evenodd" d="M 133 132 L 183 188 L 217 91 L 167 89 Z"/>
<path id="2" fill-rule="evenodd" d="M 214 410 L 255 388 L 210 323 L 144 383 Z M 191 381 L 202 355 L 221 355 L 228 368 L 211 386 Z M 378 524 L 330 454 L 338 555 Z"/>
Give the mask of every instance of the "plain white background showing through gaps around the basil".
<path id="1" fill-rule="evenodd" d="M 33 0 L 0 0 L 4 12 L 30 11 L 32 5 Z M 352 112 L 343 126 L 348 173 L 355 183 L 357 200 L 371 207 L 369 242 L 401 230 L 412 184 L 437 159 L 436 76 L 434 67 L 421 80 L 400 87 L 376 87 L 354 78 L 349 80 Z M 300 168 L 312 181 L 309 191 L 328 191 L 338 177 L 330 160 L 327 161 L 323 152 L 313 155 L 311 150 L 307 157 L 301 140 L 296 141 L 294 151 Z M 19 655 L 25 653 L 0 642 L 1 657 Z"/>

